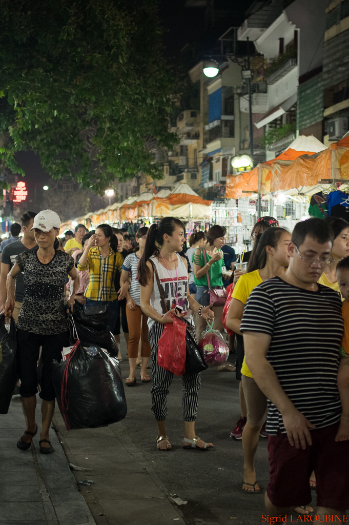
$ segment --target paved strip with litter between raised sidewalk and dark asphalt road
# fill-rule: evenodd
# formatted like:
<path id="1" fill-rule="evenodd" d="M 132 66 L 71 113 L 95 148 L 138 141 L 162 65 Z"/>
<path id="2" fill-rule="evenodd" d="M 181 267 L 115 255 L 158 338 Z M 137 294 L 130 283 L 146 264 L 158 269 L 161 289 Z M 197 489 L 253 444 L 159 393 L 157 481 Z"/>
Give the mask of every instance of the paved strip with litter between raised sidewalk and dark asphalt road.
<path id="1" fill-rule="evenodd" d="M 151 463 L 132 443 L 123 422 L 108 427 L 65 429 L 58 411 L 54 423 L 69 462 L 93 468 L 75 471 L 77 481 L 93 480 L 81 486 L 97 525 L 184 525 L 179 507 L 169 494 Z"/>

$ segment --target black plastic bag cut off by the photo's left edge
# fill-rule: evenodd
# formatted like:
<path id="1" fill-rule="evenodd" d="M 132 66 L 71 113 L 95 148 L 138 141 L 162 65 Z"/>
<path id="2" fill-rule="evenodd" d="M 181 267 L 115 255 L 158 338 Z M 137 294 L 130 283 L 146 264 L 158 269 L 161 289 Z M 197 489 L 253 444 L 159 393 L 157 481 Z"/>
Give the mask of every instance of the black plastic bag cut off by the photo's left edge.
<path id="1" fill-rule="evenodd" d="M 0 316 L 0 414 L 7 414 L 18 379 L 16 324 L 10 318 L 9 333 L 5 327 L 5 314 Z"/>

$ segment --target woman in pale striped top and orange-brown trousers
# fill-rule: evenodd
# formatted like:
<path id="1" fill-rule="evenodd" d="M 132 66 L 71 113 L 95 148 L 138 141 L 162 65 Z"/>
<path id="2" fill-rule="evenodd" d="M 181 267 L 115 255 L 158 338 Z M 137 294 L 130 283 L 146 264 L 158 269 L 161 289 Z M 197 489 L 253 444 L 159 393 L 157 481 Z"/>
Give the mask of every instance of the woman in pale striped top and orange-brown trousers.
<path id="1" fill-rule="evenodd" d="M 138 346 L 141 339 L 141 382 L 149 383 L 150 377 L 146 373 L 148 359 L 150 358 L 150 344 L 148 341 L 148 318 L 141 310 L 141 291 L 140 283 L 138 282 L 138 265 L 143 255 L 146 234 L 149 228 L 144 226 L 140 228 L 134 239 L 133 253 L 126 256 L 122 265 L 122 274 L 120 277 L 120 285 L 128 282 L 131 273 L 131 287 L 126 291 L 126 316 L 129 326 L 129 342 L 128 342 L 128 356 L 130 364 L 129 377 L 126 379 L 126 385 L 134 386 L 136 380 L 136 361 L 138 358 Z M 119 299 L 122 299 L 120 293 Z"/>

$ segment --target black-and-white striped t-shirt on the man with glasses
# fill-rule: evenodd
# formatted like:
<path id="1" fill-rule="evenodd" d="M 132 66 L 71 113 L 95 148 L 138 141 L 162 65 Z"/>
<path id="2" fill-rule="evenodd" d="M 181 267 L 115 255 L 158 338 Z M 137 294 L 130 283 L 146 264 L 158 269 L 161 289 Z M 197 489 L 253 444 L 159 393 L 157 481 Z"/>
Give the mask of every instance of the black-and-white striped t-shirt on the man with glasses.
<path id="1" fill-rule="evenodd" d="M 297 288 L 274 277 L 248 298 L 241 321 L 247 330 L 271 335 L 267 360 L 292 403 L 317 428 L 340 420 L 337 388 L 343 332 L 342 301 L 337 292 Z M 285 432 L 282 416 L 268 400 L 267 432 Z"/>

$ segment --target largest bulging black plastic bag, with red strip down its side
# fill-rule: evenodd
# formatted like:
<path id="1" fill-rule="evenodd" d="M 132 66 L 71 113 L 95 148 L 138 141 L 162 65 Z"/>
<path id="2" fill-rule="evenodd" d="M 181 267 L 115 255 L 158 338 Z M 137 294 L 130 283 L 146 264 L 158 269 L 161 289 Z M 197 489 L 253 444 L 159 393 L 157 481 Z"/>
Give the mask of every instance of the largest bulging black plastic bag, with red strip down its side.
<path id="1" fill-rule="evenodd" d="M 67 430 L 111 425 L 126 416 L 119 361 L 97 349 L 92 357 L 78 341 L 66 361 L 52 362 L 57 403 Z"/>

